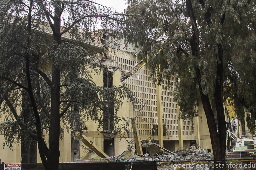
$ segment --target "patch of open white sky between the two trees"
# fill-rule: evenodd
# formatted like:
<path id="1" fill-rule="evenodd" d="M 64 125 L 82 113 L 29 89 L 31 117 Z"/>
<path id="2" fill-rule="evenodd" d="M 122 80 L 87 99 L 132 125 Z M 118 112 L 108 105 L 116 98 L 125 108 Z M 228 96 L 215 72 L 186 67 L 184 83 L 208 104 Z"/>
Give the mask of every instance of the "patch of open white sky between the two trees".
<path id="1" fill-rule="evenodd" d="M 102 4 L 106 7 L 112 7 L 117 12 L 123 12 L 126 9 L 126 1 L 123 0 L 95 0 L 96 3 Z"/>

